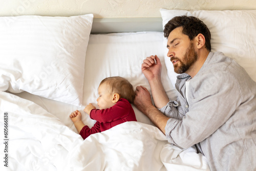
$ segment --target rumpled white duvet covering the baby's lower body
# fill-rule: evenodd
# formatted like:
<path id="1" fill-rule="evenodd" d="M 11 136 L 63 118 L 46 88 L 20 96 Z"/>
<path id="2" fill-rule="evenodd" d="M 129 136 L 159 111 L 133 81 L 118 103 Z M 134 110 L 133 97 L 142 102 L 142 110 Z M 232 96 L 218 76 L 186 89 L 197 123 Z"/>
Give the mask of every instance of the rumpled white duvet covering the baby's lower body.
<path id="1" fill-rule="evenodd" d="M 57 117 L 15 95 L 0 93 L 0 112 L 2 134 L 4 113 L 9 125 L 8 167 L 1 162 L 1 170 L 209 170 L 195 147 L 170 145 L 152 125 L 125 122 L 83 141 Z M 4 143 L 0 148 L 4 161 Z"/>

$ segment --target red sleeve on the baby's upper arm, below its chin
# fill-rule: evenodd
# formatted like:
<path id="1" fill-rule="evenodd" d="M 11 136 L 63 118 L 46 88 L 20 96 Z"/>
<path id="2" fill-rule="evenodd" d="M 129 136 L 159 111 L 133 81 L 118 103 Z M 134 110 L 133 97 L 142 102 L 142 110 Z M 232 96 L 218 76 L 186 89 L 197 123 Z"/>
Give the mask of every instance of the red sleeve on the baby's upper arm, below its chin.
<path id="1" fill-rule="evenodd" d="M 94 109 L 90 113 L 90 117 L 100 123 L 112 122 L 124 117 L 130 113 L 130 103 L 126 99 L 120 99 L 115 105 L 108 109 Z"/>

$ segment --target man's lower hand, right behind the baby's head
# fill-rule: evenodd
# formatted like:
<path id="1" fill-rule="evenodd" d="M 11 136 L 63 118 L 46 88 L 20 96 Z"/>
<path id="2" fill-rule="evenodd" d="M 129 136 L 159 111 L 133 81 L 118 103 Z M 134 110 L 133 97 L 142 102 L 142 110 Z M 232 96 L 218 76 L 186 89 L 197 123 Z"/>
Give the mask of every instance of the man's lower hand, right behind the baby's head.
<path id="1" fill-rule="evenodd" d="M 150 92 L 148 92 L 146 88 L 142 86 L 136 87 L 134 105 L 145 115 L 147 115 L 147 110 L 150 109 L 151 106 L 154 107 Z"/>

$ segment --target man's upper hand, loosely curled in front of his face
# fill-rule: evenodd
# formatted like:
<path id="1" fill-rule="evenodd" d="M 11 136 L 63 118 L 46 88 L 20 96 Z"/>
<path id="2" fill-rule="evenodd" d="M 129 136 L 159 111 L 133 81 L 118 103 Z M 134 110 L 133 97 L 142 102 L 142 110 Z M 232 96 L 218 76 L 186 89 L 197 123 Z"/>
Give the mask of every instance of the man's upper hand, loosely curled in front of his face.
<path id="1" fill-rule="evenodd" d="M 157 55 L 151 55 L 150 57 L 146 57 L 146 59 L 143 60 L 143 63 L 141 65 L 141 71 L 148 81 L 151 81 L 155 78 L 160 79 L 161 68 L 162 65 Z"/>

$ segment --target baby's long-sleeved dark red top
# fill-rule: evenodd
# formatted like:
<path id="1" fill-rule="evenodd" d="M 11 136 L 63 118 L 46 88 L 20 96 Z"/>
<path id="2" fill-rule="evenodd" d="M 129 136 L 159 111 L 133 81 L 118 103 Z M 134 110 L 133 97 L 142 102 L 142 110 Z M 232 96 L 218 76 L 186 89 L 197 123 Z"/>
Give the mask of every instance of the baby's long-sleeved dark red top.
<path id="1" fill-rule="evenodd" d="M 90 129 L 89 126 L 83 126 L 80 135 L 86 139 L 89 135 L 100 133 L 111 129 L 120 123 L 127 121 L 137 121 L 132 105 L 128 100 L 121 98 L 118 102 L 108 109 L 93 109 L 90 118 L 97 122 Z"/>

